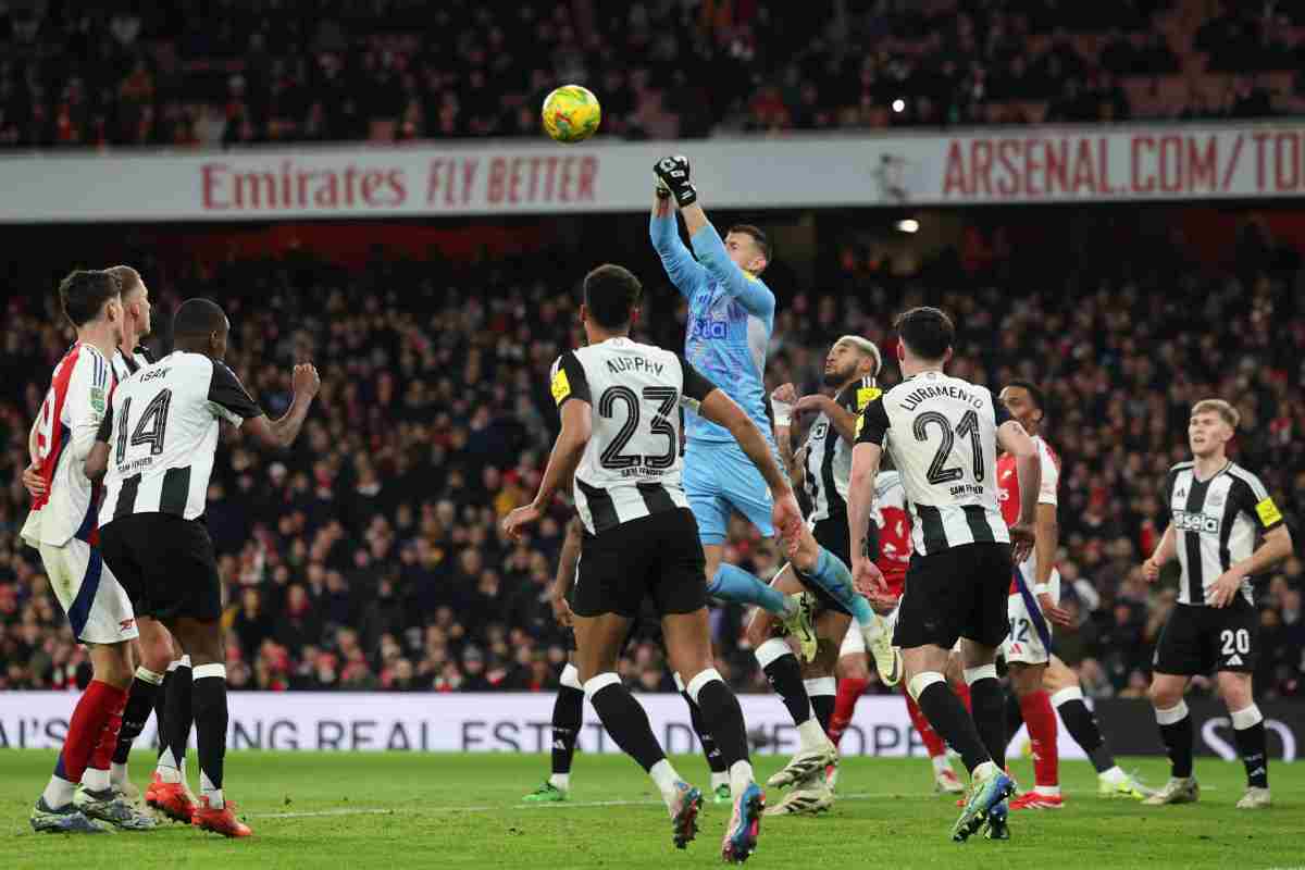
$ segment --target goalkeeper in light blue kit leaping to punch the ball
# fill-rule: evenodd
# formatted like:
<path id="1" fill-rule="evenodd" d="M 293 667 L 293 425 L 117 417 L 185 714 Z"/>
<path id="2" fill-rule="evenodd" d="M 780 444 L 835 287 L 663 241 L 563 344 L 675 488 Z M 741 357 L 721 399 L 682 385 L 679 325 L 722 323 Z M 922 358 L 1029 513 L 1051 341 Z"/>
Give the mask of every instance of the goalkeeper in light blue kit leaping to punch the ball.
<path id="1" fill-rule="evenodd" d="M 671 283 L 689 301 L 684 355 L 752 417 L 779 464 L 763 385 L 775 295 L 760 275 L 770 262 L 770 243 L 750 224 L 731 227 L 720 239 L 698 205 L 686 158 L 658 160 L 654 172 L 656 198 L 649 230 Z M 680 240 L 672 205 L 684 215 L 692 254 Z M 809 660 L 816 653 L 810 595 L 786 596 L 722 560 L 731 510 L 750 520 L 763 537 L 774 536 L 766 481 L 727 429 L 686 410 L 685 430 L 684 492 L 698 520 L 707 591 L 713 597 L 756 604 L 778 616 Z"/>

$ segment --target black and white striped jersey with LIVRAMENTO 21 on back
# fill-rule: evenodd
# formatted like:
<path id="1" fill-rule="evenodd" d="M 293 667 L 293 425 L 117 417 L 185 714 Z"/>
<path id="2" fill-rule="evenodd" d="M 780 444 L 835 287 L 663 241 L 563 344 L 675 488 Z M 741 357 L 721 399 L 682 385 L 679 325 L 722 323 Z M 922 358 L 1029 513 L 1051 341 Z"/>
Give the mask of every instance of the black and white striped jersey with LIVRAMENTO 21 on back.
<path id="1" fill-rule="evenodd" d="M 987 387 L 942 372 L 921 372 L 865 406 L 856 442 L 893 454 L 916 553 L 1010 543 L 997 505 L 997 427 L 1009 419 Z"/>

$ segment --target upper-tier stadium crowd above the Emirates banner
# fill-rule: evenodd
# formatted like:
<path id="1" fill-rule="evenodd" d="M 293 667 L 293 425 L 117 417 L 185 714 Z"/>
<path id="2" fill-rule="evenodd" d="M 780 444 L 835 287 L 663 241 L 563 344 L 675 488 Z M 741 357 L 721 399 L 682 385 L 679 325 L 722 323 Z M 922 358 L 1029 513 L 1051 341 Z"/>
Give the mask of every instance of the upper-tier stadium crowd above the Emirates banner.
<path id="1" fill-rule="evenodd" d="M 626 138 L 1300 113 L 1301 5 L 1221 7 L 9 0 L 0 147 L 535 136 L 559 82 Z"/>

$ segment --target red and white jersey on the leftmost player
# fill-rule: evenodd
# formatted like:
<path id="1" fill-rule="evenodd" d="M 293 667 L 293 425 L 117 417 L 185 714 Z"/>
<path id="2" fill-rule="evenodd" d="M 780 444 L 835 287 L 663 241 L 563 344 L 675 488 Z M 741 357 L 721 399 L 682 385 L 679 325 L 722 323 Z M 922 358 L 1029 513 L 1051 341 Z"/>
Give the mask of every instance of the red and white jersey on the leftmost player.
<path id="1" fill-rule="evenodd" d="M 114 369 L 94 346 L 78 342 L 59 360 L 37 417 L 37 459 L 46 493 L 31 500 L 22 539 L 31 547 L 63 547 L 73 537 L 97 545 L 99 530 L 82 463 L 108 407 Z"/>

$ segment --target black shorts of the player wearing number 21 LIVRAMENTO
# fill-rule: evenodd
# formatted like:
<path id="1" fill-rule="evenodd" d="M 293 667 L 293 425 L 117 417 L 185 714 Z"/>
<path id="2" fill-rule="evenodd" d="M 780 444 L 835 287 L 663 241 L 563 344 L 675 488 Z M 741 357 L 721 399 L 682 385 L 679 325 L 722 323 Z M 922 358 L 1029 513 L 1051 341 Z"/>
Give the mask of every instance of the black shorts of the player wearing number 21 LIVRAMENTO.
<path id="1" fill-rule="evenodd" d="M 997 647 L 1010 630 L 1010 544 L 962 544 L 912 556 L 893 644 L 950 650 L 958 638 Z"/>

